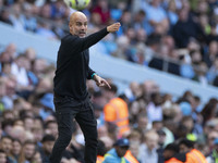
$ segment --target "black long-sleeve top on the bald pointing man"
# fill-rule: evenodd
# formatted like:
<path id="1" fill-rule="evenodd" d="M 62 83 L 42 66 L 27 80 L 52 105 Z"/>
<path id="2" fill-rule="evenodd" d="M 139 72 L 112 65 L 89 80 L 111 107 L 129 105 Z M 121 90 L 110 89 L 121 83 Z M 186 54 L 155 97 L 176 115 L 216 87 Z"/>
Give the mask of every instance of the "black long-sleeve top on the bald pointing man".
<path id="1" fill-rule="evenodd" d="M 69 34 L 61 39 L 53 78 L 55 95 L 72 97 L 77 101 L 82 101 L 88 96 L 86 79 L 90 79 L 95 73 L 88 65 L 88 48 L 107 34 L 107 28 L 104 28 L 85 38 Z"/>

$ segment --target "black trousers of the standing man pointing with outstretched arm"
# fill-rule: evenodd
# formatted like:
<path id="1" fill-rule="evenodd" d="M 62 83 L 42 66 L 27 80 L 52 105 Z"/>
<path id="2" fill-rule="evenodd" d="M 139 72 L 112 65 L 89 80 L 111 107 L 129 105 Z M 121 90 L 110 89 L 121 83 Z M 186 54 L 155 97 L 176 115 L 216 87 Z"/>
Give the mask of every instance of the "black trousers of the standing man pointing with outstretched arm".
<path id="1" fill-rule="evenodd" d="M 76 102 L 70 97 L 55 96 L 56 115 L 58 121 L 58 139 L 50 155 L 50 163 L 60 163 L 62 152 L 72 138 L 73 118 L 78 123 L 85 137 L 85 163 L 96 163 L 97 156 L 97 122 L 94 115 L 89 98 L 83 102 Z"/>

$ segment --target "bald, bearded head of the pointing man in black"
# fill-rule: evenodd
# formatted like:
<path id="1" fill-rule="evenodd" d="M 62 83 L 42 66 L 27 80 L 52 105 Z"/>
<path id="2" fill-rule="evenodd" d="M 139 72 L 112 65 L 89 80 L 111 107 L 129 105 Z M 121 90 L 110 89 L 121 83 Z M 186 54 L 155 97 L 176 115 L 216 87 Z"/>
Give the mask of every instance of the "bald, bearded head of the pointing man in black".
<path id="1" fill-rule="evenodd" d="M 84 13 L 76 11 L 71 14 L 69 23 L 70 33 L 78 37 L 85 37 L 87 32 L 87 17 Z"/>

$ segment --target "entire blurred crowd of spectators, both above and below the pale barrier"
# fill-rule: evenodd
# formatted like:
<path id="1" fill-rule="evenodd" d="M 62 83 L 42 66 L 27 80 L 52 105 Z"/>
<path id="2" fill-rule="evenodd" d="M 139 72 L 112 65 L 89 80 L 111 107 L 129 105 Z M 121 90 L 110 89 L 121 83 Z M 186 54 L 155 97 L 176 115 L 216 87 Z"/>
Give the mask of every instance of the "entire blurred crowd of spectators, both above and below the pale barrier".
<path id="1" fill-rule="evenodd" d="M 216 82 L 216 1 L 108 2 L 93 0 L 96 5 L 84 10 L 89 15 L 90 33 L 111 21 L 122 24 L 116 36 L 106 37 L 101 41 L 104 46 L 97 45 L 104 47 L 106 54 L 158 70 L 167 68 L 169 73 L 194 78 L 204 85 Z M 17 30 L 31 30 L 50 39 L 59 39 L 68 32 L 62 25 L 66 24 L 71 11 L 62 1 L 0 0 L 0 20 Z M 152 14 L 154 12 L 157 15 Z M 56 67 L 38 59 L 35 49 L 21 52 L 13 43 L 1 49 L 0 65 L 0 161 L 41 163 L 48 160 L 58 136 L 52 103 Z M 108 82 L 112 89 L 98 88 L 93 80 L 87 82 L 105 152 L 117 139 L 125 137 L 130 140 L 130 151 L 138 161 L 162 163 L 165 147 L 186 138 L 195 141 L 195 148 L 208 161 L 218 159 L 218 154 L 214 154 L 218 152 L 216 98 L 203 104 L 201 98 L 189 90 L 173 97 L 160 92 L 154 80 L 132 82 L 122 95 L 118 95 L 112 79 Z M 106 105 L 114 98 L 122 99 L 128 106 L 129 130 L 123 135 L 119 135 L 118 126 L 105 118 Z M 76 123 L 74 129 L 61 163 L 83 162 L 84 137 Z"/>

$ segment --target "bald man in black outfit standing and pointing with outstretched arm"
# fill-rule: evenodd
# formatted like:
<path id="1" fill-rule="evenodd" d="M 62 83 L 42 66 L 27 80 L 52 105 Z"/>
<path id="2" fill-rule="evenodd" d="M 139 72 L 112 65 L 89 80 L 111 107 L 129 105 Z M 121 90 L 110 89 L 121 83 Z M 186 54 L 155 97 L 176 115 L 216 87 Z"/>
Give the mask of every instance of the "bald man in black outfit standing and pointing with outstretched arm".
<path id="1" fill-rule="evenodd" d="M 97 123 L 86 88 L 86 79 L 94 79 L 97 86 L 110 85 L 88 65 L 88 48 L 107 34 L 120 28 L 114 23 L 86 37 L 87 17 L 82 12 L 70 16 L 70 33 L 61 39 L 55 76 L 55 105 L 59 137 L 50 155 L 51 163 L 60 163 L 61 154 L 71 141 L 73 118 L 78 123 L 85 137 L 85 163 L 96 163 Z"/>

